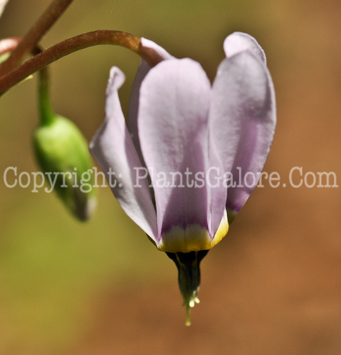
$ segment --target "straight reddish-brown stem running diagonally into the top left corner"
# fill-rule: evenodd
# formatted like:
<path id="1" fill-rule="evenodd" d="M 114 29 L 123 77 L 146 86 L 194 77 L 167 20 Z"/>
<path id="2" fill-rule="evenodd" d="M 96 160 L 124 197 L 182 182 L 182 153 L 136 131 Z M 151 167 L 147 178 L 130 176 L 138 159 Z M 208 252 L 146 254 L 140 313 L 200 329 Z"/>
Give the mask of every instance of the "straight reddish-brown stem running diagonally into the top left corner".
<path id="1" fill-rule="evenodd" d="M 0 77 L 8 73 L 17 66 L 24 55 L 35 47 L 44 33 L 53 25 L 64 10 L 73 0 L 53 0 L 49 7 L 44 11 L 40 18 L 24 35 L 22 41 L 12 52 L 12 55 L 0 66 Z"/>

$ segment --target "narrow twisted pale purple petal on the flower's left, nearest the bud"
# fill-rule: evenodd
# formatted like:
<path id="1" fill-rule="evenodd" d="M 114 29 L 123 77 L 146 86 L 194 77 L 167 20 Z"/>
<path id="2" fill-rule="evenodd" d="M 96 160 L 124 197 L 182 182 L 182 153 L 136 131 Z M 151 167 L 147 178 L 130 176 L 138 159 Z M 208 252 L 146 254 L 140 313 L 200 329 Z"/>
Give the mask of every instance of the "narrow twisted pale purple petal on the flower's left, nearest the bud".
<path id="1" fill-rule="evenodd" d="M 106 119 L 90 143 L 90 151 L 107 176 L 111 189 L 126 214 L 158 245 L 156 212 L 147 180 L 137 181 L 141 161 L 125 126 L 117 90 L 124 82 L 117 67 L 110 71 L 107 87 Z M 113 174 L 110 180 L 110 171 Z M 139 187 L 137 187 L 139 186 Z"/>

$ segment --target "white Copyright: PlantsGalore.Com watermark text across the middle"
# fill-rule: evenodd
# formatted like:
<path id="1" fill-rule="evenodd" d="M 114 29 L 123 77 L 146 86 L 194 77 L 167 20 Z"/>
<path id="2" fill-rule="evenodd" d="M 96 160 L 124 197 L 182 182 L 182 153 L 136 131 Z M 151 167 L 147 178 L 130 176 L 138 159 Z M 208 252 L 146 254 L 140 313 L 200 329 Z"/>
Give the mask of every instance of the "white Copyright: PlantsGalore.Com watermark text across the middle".
<path id="1" fill-rule="evenodd" d="M 148 180 L 151 175 L 152 184 Z M 106 179 L 107 177 L 107 179 Z M 255 186 L 263 188 L 266 185 L 271 188 L 287 187 L 292 188 L 338 188 L 336 174 L 333 171 L 304 171 L 302 166 L 294 166 L 290 169 L 287 179 L 284 181 L 277 171 L 270 173 L 262 171 L 253 173 L 252 171 L 243 171 L 241 167 L 231 172 L 220 173 L 218 167 L 210 167 L 206 172 L 191 172 L 189 168 L 185 171 L 148 171 L 145 167 L 134 167 L 129 180 L 134 182 L 134 188 L 141 188 L 148 184 L 151 188 L 203 188 L 208 185 L 210 188 L 217 188 L 221 184 L 225 188 L 254 188 Z M 82 192 L 90 192 L 93 188 L 124 187 L 124 176 L 118 171 L 109 171 L 105 174 L 98 171 L 96 167 L 78 174 L 76 168 L 73 171 L 66 172 L 41 172 L 41 171 L 18 171 L 18 167 L 9 166 L 4 170 L 3 182 L 7 188 L 30 188 L 31 192 L 43 190 L 50 193 L 58 185 L 61 188 L 72 186 L 79 188 Z M 47 183 L 47 184 L 46 184 Z"/>

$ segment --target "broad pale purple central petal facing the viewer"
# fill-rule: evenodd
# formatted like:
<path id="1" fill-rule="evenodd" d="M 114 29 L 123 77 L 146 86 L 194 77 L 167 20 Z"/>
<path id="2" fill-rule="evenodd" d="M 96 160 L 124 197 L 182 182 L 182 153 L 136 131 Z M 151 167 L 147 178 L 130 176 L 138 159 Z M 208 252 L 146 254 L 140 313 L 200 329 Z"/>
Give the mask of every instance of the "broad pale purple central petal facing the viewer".
<path id="1" fill-rule="evenodd" d="M 139 136 L 154 185 L 159 235 L 173 226 L 209 229 L 207 185 L 190 185 L 208 166 L 210 86 L 206 73 L 191 59 L 159 63 L 141 85 Z M 172 183 L 176 172 L 182 174 L 182 184 L 179 175 L 172 184 L 176 187 L 158 181 L 164 174 L 164 183 Z"/>

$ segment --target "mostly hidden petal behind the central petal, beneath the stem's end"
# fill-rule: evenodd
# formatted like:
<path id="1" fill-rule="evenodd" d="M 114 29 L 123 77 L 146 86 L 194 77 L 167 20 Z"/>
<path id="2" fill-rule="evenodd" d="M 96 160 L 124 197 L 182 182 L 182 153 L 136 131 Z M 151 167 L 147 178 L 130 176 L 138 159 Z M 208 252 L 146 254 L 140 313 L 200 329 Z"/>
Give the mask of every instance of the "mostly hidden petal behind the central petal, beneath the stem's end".
<path id="1" fill-rule="evenodd" d="M 170 55 L 166 50 L 162 47 L 158 46 L 156 43 L 147 40 L 145 38 L 141 38 L 141 44 L 143 47 L 151 48 L 155 52 L 157 52 L 163 59 L 174 59 L 172 55 Z M 133 144 L 139 154 L 141 161 L 143 162 L 143 157 L 141 154 L 141 147 L 139 141 L 139 133 L 138 133 L 138 111 L 139 111 L 139 95 L 140 95 L 140 87 L 143 79 L 149 72 L 151 66 L 144 60 L 141 60 L 140 66 L 138 68 L 138 72 L 136 73 L 134 82 L 132 84 L 129 106 L 128 106 L 128 117 L 127 117 L 127 127 L 128 131 L 132 137 Z"/>

